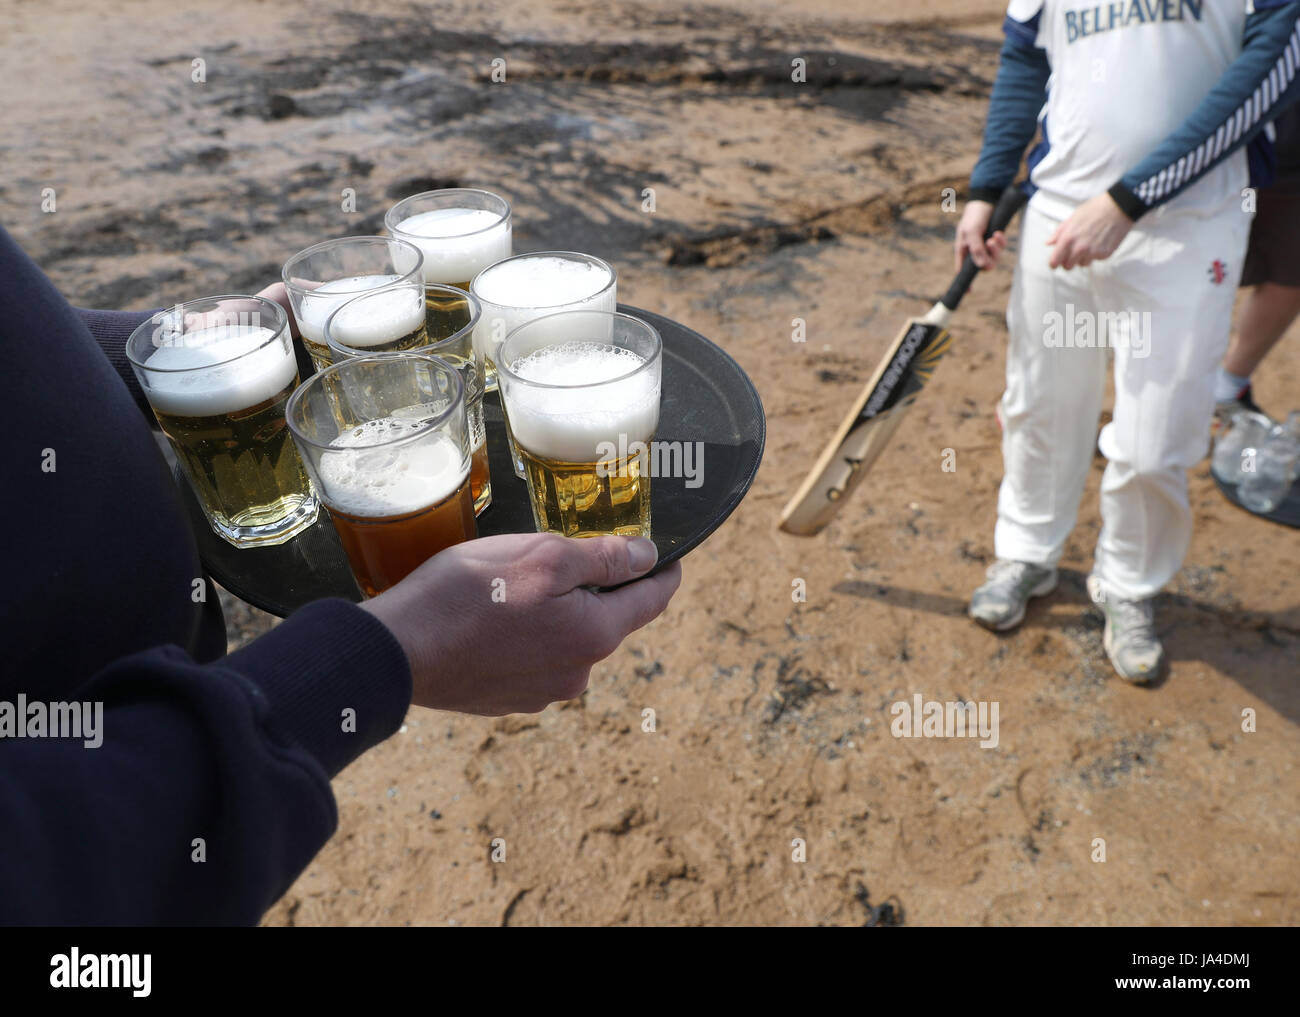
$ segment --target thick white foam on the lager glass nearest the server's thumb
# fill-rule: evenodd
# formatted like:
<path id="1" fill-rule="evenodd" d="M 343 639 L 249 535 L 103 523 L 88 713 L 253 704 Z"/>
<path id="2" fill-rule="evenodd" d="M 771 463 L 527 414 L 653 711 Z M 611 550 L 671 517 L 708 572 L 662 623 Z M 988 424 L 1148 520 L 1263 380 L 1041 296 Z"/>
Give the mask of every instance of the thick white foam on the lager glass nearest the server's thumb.
<path id="1" fill-rule="evenodd" d="M 607 456 L 603 442 L 649 442 L 659 424 L 659 371 L 637 371 L 642 364 L 638 354 L 598 342 L 543 346 L 516 360 L 516 377 L 503 382 L 515 441 L 533 455 L 566 463 Z M 564 388 L 536 388 L 520 378 Z"/>

